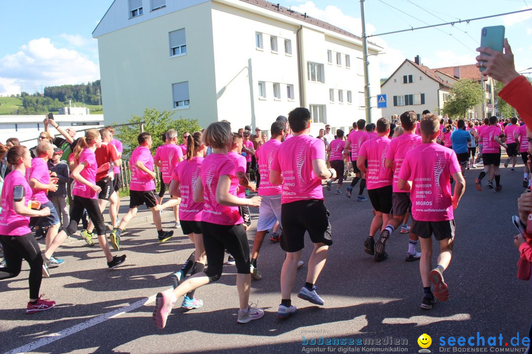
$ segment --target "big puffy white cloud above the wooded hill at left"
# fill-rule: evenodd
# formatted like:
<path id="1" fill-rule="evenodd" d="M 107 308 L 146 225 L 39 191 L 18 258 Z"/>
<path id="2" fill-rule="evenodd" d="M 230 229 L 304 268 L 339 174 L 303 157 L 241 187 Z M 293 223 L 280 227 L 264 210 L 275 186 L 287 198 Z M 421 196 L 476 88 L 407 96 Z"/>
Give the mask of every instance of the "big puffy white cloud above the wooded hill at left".
<path id="1" fill-rule="evenodd" d="M 63 37 L 66 39 L 66 37 Z M 81 43 L 76 36 L 68 37 Z M 99 79 L 99 67 L 77 50 L 57 48 L 49 38 L 33 39 L 15 54 L 0 59 L 0 94 L 30 93 L 49 85 Z"/>

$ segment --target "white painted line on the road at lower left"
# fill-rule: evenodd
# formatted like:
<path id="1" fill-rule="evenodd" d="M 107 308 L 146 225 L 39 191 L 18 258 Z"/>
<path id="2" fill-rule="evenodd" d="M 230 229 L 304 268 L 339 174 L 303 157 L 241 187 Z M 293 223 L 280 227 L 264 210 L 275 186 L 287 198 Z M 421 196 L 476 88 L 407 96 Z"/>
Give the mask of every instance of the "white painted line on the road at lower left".
<path id="1" fill-rule="evenodd" d="M 117 309 L 115 309 L 115 310 L 113 310 L 111 312 L 108 312 L 106 314 L 90 318 L 90 320 L 88 320 L 88 321 L 79 323 L 77 325 L 74 325 L 72 327 L 64 329 L 64 330 L 62 330 L 60 332 L 48 334 L 44 338 L 40 338 L 40 339 L 38 339 L 38 340 L 36 340 L 34 342 L 26 344 L 25 346 L 22 346 L 22 347 L 13 349 L 11 351 L 8 351 L 5 354 L 22 354 L 22 353 L 26 353 L 28 351 L 35 350 L 35 349 L 40 348 L 40 347 L 44 347 L 47 344 L 50 344 L 50 343 L 53 343 L 53 342 L 55 342 L 57 340 L 63 339 L 66 336 L 69 336 L 69 335 L 77 333 L 79 331 L 88 329 L 89 327 L 92 327 L 92 326 L 95 326 L 95 325 L 100 324 L 102 322 L 105 322 L 105 321 L 109 320 L 110 318 L 121 316 L 121 315 L 123 315 L 123 314 L 125 314 L 127 312 L 130 312 L 130 311 L 132 311 L 132 310 L 134 310 L 136 308 L 139 308 L 139 307 L 144 306 L 144 305 L 151 304 L 151 303 L 153 303 L 155 301 L 155 296 L 156 295 L 152 295 L 152 296 L 150 296 L 148 298 L 144 298 L 142 300 L 138 300 L 135 303 L 132 303 L 131 305 L 123 306 L 123 307 L 117 308 Z"/>

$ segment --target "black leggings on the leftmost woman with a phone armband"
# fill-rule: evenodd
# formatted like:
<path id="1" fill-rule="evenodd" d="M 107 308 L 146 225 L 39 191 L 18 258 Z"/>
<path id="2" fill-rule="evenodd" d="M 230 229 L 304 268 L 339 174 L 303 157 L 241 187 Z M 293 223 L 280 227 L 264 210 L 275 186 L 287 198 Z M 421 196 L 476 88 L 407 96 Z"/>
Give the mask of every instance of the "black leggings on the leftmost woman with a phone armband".
<path id="1" fill-rule="evenodd" d="M 22 260 L 30 265 L 28 282 L 30 299 L 39 298 L 40 282 L 43 280 L 43 257 L 40 255 L 39 244 L 30 233 L 23 236 L 0 235 L 6 267 L 0 267 L 0 279 L 14 278 L 20 274 Z"/>

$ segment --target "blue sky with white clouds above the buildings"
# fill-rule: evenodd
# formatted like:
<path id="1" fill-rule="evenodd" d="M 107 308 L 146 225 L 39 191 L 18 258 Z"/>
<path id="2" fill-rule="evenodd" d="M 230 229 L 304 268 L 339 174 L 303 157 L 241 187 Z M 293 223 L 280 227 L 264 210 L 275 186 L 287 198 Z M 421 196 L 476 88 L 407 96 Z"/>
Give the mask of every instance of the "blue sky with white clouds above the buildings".
<path id="1" fill-rule="evenodd" d="M 174 1 L 174 0 L 167 0 Z M 360 35 L 360 2 L 356 0 L 276 0 L 294 10 Z M 42 91 L 47 85 L 86 83 L 99 79 L 97 41 L 92 31 L 112 0 L 0 1 L 0 94 Z M 395 8 L 393 8 L 393 7 Z M 532 0 L 366 0 L 368 33 L 420 27 L 532 7 Z M 372 37 L 385 47 L 379 56 L 380 77 L 387 77 L 405 58 L 420 55 L 429 67 L 471 64 L 480 30 L 506 27 L 518 71 L 532 67 L 532 11 Z M 532 71 L 532 70 L 528 70 Z"/>

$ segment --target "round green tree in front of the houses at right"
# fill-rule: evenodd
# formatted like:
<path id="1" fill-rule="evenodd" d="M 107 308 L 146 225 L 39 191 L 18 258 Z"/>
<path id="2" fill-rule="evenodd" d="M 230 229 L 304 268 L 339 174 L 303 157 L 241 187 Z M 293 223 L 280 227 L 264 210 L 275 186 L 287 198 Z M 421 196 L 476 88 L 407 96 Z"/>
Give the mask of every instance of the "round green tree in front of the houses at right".
<path id="1" fill-rule="evenodd" d="M 482 103 L 484 94 L 484 90 L 475 80 L 458 80 L 449 91 L 449 98 L 443 106 L 443 113 L 450 117 L 465 118 L 469 109 Z"/>

